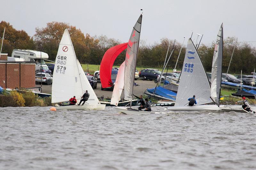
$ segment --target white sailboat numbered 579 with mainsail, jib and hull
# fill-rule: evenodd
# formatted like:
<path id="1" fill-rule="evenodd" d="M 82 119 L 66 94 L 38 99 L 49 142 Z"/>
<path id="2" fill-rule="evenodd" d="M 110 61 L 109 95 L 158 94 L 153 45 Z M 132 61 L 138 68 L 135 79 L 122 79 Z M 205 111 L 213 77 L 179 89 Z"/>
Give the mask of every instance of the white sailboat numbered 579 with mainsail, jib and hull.
<path id="1" fill-rule="evenodd" d="M 84 70 L 76 58 L 74 46 L 68 29 L 65 29 L 55 60 L 52 81 L 52 103 L 67 102 L 76 96 L 77 102 L 88 90 L 90 97 L 84 106 L 70 105 L 56 107 L 56 110 L 104 110 L 105 104 L 100 104 L 92 86 L 87 80 Z"/>

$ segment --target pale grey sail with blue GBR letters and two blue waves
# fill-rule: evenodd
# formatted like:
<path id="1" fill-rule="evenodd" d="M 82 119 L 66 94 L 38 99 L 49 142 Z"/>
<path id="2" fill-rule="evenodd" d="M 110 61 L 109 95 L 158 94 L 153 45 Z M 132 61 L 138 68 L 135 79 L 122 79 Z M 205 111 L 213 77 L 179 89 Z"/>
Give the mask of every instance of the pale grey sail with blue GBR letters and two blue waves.
<path id="1" fill-rule="evenodd" d="M 187 106 L 188 98 L 196 95 L 197 104 L 211 103 L 211 88 L 202 61 L 191 39 L 184 58 L 175 106 Z"/>

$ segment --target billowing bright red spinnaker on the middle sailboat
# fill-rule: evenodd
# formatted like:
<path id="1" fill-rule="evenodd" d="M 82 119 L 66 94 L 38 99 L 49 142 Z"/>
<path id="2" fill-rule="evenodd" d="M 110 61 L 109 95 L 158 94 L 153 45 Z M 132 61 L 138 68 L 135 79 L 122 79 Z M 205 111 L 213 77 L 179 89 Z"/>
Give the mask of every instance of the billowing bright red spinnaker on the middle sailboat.
<path id="1" fill-rule="evenodd" d="M 111 80 L 111 72 L 116 57 L 127 48 L 128 43 L 119 44 L 109 48 L 104 54 L 100 63 L 100 81 L 102 88 L 111 87 L 113 82 Z"/>

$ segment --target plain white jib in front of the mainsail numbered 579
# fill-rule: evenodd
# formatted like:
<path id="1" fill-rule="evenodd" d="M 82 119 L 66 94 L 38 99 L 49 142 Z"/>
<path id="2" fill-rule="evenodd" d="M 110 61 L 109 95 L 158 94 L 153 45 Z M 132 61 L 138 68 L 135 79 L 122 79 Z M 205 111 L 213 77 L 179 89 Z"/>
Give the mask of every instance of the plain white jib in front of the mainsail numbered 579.
<path id="1" fill-rule="evenodd" d="M 86 102 L 88 104 L 99 104 L 100 101 L 99 101 L 98 97 L 96 96 L 96 94 L 94 93 L 92 86 L 91 86 L 90 82 L 88 81 L 88 79 L 84 73 L 84 70 L 78 60 L 77 60 L 77 65 L 78 65 L 79 72 L 80 72 L 81 84 L 82 84 L 83 91 L 80 93 L 80 96 L 77 96 L 76 98 L 80 100 L 81 96 L 83 96 L 83 94 L 85 93 L 85 90 L 87 90 L 88 93 L 90 94 L 90 97 Z"/>

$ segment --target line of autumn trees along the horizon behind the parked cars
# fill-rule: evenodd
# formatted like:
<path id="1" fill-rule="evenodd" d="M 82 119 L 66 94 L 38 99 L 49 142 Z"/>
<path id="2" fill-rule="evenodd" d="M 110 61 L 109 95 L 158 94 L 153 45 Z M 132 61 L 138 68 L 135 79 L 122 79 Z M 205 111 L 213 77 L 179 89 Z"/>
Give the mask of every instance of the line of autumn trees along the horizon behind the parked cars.
<path id="1" fill-rule="evenodd" d="M 105 35 L 91 36 L 84 34 L 76 26 L 62 22 L 50 22 L 46 27 L 35 28 L 35 35 L 30 37 L 24 30 L 16 30 L 10 23 L 2 21 L 0 23 L 0 37 L 2 39 L 5 29 L 4 43 L 2 53 L 8 53 L 11 56 L 13 49 L 31 49 L 48 53 L 49 60 L 55 60 L 58 52 L 59 43 L 64 30 L 67 28 L 73 42 L 76 56 L 80 63 L 83 64 L 100 64 L 104 53 L 112 46 L 123 43 L 118 39 L 108 38 Z M 186 41 L 186 40 L 185 40 Z M 170 43 L 168 56 L 172 51 L 174 40 L 169 41 L 167 38 L 160 39 L 153 45 L 148 45 L 145 41 L 140 40 L 140 47 L 137 59 L 139 67 L 163 67 L 166 52 Z M 186 43 L 185 43 L 186 44 Z M 227 37 L 224 39 L 223 47 L 223 73 L 226 73 L 228 64 L 236 44 L 235 37 Z M 181 46 L 181 43 L 175 42 L 174 51 L 170 58 L 169 67 L 174 68 L 177 57 L 180 52 L 180 58 L 177 63 L 177 69 L 181 69 L 186 52 L 186 46 Z M 198 53 L 204 64 L 206 71 L 212 69 L 212 56 L 214 50 L 214 40 L 211 45 L 200 45 Z M 126 51 L 122 52 L 116 59 L 115 65 L 120 65 L 125 59 Z M 256 63 L 256 48 L 248 43 L 238 43 L 236 45 L 232 62 L 229 68 L 229 73 L 240 73 L 243 70 L 244 74 L 253 72 Z"/>

